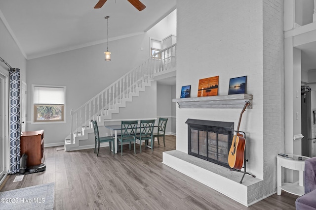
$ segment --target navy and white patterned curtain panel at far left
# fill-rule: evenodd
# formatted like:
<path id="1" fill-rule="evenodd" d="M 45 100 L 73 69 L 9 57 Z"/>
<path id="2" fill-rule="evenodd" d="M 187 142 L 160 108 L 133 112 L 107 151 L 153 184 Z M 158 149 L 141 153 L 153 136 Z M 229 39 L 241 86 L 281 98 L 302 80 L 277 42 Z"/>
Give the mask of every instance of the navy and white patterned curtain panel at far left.
<path id="1" fill-rule="evenodd" d="M 10 69 L 9 88 L 10 112 L 10 170 L 9 174 L 20 172 L 20 69 Z"/>

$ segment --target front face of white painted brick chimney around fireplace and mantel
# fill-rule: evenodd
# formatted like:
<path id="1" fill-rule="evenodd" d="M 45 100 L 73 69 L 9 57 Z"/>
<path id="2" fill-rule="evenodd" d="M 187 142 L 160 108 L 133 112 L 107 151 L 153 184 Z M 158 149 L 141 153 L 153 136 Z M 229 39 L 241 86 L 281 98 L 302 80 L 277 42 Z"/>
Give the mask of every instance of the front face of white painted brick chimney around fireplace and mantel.
<path id="1" fill-rule="evenodd" d="M 217 75 L 218 95 L 227 95 L 229 79 L 246 75 L 247 93 L 254 100 L 253 109 L 243 114 L 240 130 L 247 134 L 247 168 L 259 179 L 263 178 L 262 12 L 260 1 L 177 2 L 177 69 L 181 69 L 177 71 L 177 98 L 184 85 L 191 85 L 191 97 L 197 97 L 198 80 Z M 187 52 L 191 52 L 190 59 Z M 177 150 L 187 152 L 188 118 L 235 122 L 237 129 L 240 111 L 177 109 Z"/>

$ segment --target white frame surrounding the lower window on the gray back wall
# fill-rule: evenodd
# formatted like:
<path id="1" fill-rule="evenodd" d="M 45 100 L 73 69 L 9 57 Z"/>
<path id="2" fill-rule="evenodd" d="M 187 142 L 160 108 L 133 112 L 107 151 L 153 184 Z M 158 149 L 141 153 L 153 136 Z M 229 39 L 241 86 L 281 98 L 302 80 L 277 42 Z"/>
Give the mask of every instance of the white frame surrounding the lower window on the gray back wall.
<path id="1" fill-rule="evenodd" d="M 34 88 L 35 87 L 45 87 L 45 88 L 63 88 L 65 90 L 65 103 L 64 103 L 64 120 L 63 121 L 37 121 L 35 122 L 35 119 L 34 119 Z M 66 123 L 66 98 L 67 98 L 67 95 L 66 95 L 66 86 L 52 86 L 52 85 L 35 85 L 35 84 L 32 84 L 32 108 L 31 108 L 31 116 L 32 116 L 32 120 L 31 120 L 31 124 L 56 124 L 56 123 Z"/>

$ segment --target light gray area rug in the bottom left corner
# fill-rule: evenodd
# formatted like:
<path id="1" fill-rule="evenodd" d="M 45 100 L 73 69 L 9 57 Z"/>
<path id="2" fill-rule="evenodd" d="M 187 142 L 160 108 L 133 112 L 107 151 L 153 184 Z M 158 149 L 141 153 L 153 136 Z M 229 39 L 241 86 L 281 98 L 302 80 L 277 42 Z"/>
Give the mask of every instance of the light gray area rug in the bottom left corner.
<path id="1" fill-rule="evenodd" d="M 53 210 L 54 183 L 0 192 L 0 210 Z"/>

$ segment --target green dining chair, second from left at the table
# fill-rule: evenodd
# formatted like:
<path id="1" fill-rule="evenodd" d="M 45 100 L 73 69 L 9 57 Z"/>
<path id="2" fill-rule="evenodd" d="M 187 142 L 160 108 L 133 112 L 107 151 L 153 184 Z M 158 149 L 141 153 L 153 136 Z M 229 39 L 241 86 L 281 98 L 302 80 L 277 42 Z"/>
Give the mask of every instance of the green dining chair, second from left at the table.
<path id="1" fill-rule="evenodd" d="M 134 142 L 134 153 L 136 154 L 135 142 L 136 142 L 136 132 L 137 132 L 138 120 L 132 121 L 121 121 L 121 133 L 118 136 L 118 141 L 120 142 L 120 155 L 123 155 L 123 143 L 129 142 L 129 150 L 131 150 L 131 143 Z"/>

